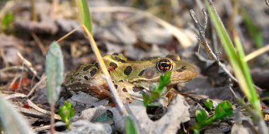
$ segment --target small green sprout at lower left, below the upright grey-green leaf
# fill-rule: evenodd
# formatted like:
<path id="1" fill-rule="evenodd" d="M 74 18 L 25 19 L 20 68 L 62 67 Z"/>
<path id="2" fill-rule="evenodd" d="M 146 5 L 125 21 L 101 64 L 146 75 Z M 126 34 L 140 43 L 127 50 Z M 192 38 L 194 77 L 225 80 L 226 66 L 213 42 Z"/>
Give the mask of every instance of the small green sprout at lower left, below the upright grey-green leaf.
<path id="1" fill-rule="evenodd" d="M 64 102 L 64 106 L 59 107 L 59 116 L 61 116 L 62 121 L 67 124 L 67 128 L 71 129 L 71 119 L 74 117 L 75 111 L 71 102 Z"/>

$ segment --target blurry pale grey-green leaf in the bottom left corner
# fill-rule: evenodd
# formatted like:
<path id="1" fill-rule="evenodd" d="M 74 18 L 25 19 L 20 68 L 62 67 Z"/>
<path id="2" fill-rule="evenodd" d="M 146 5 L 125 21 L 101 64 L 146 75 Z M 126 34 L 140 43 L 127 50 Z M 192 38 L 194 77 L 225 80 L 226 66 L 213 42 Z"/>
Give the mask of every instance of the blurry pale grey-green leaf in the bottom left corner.
<path id="1" fill-rule="evenodd" d="M 33 133 L 25 118 L 18 113 L 10 102 L 2 97 L 0 97 L 0 117 L 1 128 L 5 133 Z"/>

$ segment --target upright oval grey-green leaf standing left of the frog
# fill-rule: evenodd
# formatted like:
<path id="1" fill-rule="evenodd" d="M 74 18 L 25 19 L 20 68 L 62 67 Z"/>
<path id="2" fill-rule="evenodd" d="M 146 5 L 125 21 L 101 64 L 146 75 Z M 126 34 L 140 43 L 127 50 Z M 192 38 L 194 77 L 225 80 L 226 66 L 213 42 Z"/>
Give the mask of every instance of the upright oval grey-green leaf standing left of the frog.
<path id="1" fill-rule="evenodd" d="M 57 42 L 50 44 L 45 67 L 47 75 L 47 99 L 50 104 L 54 105 L 59 97 L 60 87 L 64 78 L 62 50 Z"/>

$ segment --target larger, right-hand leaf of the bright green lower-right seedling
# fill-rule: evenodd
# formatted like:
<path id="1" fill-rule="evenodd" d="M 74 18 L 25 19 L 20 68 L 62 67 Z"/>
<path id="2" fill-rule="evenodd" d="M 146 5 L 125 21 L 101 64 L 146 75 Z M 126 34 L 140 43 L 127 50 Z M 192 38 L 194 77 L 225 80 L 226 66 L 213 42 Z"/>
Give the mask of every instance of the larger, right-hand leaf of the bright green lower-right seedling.
<path id="1" fill-rule="evenodd" d="M 229 117 L 233 114 L 233 108 L 231 105 L 231 102 L 229 101 L 224 101 L 224 102 L 220 102 L 216 109 L 214 109 L 214 116 L 213 118 L 215 119 L 222 119 L 225 117 Z"/>

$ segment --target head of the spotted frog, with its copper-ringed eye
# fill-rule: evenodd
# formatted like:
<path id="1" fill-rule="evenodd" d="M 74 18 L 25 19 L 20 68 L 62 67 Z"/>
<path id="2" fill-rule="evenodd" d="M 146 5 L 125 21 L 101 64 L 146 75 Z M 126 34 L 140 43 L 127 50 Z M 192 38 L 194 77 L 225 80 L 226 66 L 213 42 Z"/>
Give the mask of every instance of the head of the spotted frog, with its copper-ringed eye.
<path id="1" fill-rule="evenodd" d="M 192 80 L 198 75 L 198 71 L 191 63 L 182 61 L 177 54 L 168 54 L 164 58 L 150 59 L 140 63 L 138 77 L 130 82 L 147 87 L 151 83 L 159 82 L 160 76 L 171 71 L 171 83 L 176 85 Z"/>

